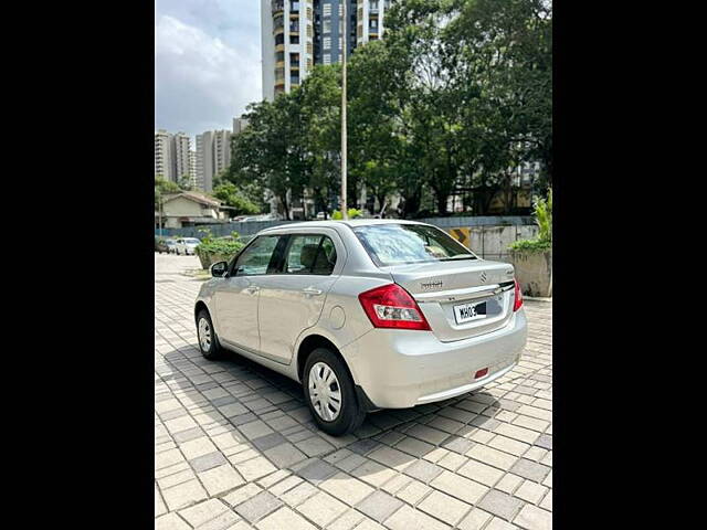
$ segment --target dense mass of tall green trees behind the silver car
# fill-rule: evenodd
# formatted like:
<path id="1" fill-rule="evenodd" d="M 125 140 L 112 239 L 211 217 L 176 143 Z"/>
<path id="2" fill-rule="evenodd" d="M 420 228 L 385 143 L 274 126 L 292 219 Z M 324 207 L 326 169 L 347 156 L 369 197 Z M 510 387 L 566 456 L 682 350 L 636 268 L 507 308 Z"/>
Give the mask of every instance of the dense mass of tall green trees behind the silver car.
<path id="1" fill-rule="evenodd" d="M 412 216 L 452 195 L 510 213 L 517 170 L 539 161 L 552 181 L 552 7 L 545 0 L 398 0 L 384 39 L 354 53 L 348 76 L 349 189 Z M 249 107 L 228 179 L 270 189 L 289 218 L 312 191 L 326 210 L 340 183 L 340 67 Z M 432 195 L 432 197 L 431 197 Z M 468 205 L 468 203 L 465 201 Z"/>

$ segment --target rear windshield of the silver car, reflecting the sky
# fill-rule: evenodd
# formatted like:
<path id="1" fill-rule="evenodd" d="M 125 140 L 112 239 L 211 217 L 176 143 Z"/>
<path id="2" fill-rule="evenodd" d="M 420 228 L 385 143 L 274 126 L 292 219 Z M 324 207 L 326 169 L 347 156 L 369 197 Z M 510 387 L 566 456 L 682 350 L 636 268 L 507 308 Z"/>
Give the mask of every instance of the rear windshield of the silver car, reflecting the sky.
<path id="1" fill-rule="evenodd" d="M 354 227 L 376 265 L 476 259 L 468 248 L 434 226 L 372 224 Z"/>

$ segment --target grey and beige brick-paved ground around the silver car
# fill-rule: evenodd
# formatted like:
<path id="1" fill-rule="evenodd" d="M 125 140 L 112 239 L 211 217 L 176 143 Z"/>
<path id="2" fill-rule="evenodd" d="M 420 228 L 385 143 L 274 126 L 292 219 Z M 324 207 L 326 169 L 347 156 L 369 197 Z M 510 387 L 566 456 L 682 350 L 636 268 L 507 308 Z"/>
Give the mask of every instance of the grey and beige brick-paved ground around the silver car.
<path id="1" fill-rule="evenodd" d="M 551 528 L 552 305 L 520 365 L 473 394 L 319 432 L 296 383 L 201 357 L 196 257 L 155 258 L 155 528 Z"/>

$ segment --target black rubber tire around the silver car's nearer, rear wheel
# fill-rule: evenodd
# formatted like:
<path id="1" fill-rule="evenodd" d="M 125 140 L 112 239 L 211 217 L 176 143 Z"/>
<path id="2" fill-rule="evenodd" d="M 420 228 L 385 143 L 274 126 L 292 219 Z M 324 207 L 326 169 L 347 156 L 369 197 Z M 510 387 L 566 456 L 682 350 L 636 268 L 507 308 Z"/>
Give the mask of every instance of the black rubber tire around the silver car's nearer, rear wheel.
<path id="1" fill-rule="evenodd" d="M 329 385 L 319 384 L 320 390 L 327 389 L 325 392 L 334 392 L 331 395 L 331 400 L 329 403 L 336 403 L 336 395 L 340 396 L 339 401 L 339 410 L 336 414 L 331 412 L 331 409 L 327 407 L 321 414 L 334 416 L 333 420 L 326 420 L 320 414 L 319 410 L 321 409 L 321 403 L 317 403 L 317 406 L 313 403 L 312 391 L 309 389 L 309 378 L 312 374 L 313 367 L 317 367 L 319 370 L 319 375 L 323 373 L 328 373 L 326 370 L 323 372 L 323 368 L 328 368 L 336 375 L 336 381 L 338 381 L 338 385 L 335 384 L 334 380 L 330 380 Z M 315 372 L 316 373 L 316 372 Z M 305 363 L 305 371 L 303 378 L 304 393 L 307 405 L 309 406 L 309 411 L 312 412 L 312 416 L 314 421 L 319 426 L 321 431 L 331 436 L 344 436 L 352 431 L 356 431 L 363 420 L 366 418 L 366 410 L 360 405 L 358 398 L 356 395 L 356 390 L 354 388 L 354 380 L 349 373 L 348 368 L 344 363 L 340 357 L 335 354 L 333 351 L 327 348 L 317 348 L 312 352 L 312 354 L 307 358 L 307 362 Z M 314 383 L 315 389 L 317 383 Z M 336 388 L 339 389 L 339 393 L 336 393 Z M 314 391 L 316 392 L 316 390 Z M 320 392 L 318 392 L 320 394 Z M 325 395 L 326 399 L 326 395 Z"/>

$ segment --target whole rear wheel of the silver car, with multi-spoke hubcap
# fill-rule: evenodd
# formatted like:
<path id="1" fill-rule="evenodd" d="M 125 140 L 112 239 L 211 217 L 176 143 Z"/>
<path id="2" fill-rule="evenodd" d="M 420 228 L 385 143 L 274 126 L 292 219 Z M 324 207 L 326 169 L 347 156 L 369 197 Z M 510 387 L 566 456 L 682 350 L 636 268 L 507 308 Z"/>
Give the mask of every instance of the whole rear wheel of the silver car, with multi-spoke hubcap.
<path id="1" fill-rule="evenodd" d="M 317 348 L 312 352 L 303 383 L 309 411 L 325 433 L 342 436 L 363 423 L 366 411 L 358 402 L 351 375 L 333 351 Z"/>

